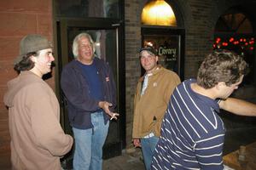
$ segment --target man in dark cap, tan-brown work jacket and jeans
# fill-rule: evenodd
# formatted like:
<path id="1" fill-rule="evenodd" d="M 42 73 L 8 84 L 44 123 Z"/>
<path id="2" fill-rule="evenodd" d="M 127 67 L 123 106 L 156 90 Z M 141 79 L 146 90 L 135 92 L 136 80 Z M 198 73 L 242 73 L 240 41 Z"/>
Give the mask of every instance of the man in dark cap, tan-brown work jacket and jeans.
<path id="1" fill-rule="evenodd" d="M 143 160 L 149 170 L 160 137 L 162 119 L 180 79 L 175 72 L 157 65 L 158 56 L 154 48 L 141 48 L 140 61 L 146 73 L 137 83 L 132 138 L 136 147 L 142 147 Z"/>

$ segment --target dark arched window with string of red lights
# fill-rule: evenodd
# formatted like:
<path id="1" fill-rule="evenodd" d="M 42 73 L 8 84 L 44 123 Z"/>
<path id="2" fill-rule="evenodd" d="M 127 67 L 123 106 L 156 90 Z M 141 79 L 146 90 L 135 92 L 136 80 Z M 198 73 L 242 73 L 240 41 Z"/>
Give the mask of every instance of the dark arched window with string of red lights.
<path id="1" fill-rule="evenodd" d="M 255 74 L 255 37 L 253 26 L 247 16 L 231 11 L 219 17 L 215 26 L 213 48 L 229 49 L 240 54 L 250 66 L 250 72 L 244 82 L 256 82 Z"/>

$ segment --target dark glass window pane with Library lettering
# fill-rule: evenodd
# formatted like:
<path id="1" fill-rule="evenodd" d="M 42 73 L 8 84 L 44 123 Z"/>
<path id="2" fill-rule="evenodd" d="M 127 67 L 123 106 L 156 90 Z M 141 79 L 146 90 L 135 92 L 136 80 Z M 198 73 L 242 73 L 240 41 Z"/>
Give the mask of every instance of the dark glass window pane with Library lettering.
<path id="1" fill-rule="evenodd" d="M 156 49 L 158 64 L 175 71 L 183 80 L 184 31 L 163 28 L 142 28 L 142 46 Z M 142 75 L 144 70 L 142 69 Z"/>

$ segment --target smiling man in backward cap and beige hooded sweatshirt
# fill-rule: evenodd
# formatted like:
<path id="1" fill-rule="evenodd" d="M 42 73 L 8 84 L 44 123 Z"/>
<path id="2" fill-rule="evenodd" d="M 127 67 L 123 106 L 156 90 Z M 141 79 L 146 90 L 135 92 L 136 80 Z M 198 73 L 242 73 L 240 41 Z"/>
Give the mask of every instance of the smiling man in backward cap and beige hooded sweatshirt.
<path id="1" fill-rule="evenodd" d="M 42 80 L 51 71 L 52 47 L 46 37 L 28 35 L 20 41 L 15 70 L 4 104 L 9 108 L 11 164 L 17 170 L 60 170 L 60 157 L 73 145 L 63 132 L 55 93 Z"/>

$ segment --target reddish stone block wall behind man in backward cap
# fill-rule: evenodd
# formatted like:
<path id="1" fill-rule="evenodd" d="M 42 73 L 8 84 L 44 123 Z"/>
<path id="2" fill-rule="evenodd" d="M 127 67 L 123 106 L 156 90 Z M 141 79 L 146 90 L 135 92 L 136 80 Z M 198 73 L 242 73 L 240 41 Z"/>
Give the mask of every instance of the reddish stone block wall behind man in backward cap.
<path id="1" fill-rule="evenodd" d="M 16 77 L 13 60 L 19 54 L 20 39 L 38 33 L 53 39 L 51 0 L 0 1 L 0 154 L 9 153 L 8 111 L 3 105 L 6 83 Z M 54 78 L 49 85 L 55 87 Z M 44 109 L 44 108 L 42 108 Z"/>

